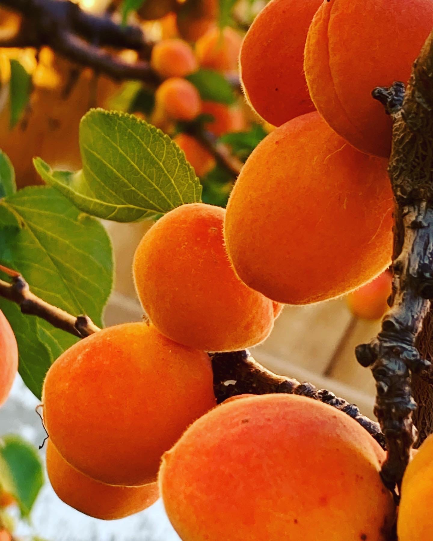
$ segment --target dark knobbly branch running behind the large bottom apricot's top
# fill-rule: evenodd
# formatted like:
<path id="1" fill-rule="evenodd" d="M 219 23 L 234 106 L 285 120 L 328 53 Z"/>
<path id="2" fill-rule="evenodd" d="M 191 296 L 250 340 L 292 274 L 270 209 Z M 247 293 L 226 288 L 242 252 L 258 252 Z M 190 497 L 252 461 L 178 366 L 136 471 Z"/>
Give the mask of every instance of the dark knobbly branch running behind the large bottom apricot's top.
<path id="1" fill-rule="evenodd" d="M 365 428 L 382 448 L 385 448 L 385 438 L 380 432 L 379 424 L 362 415 L 355 404 L 350 404 L 343 398 L 337 398 L 330 391 L 318 390 L 311 383 L 300 383 L 296 379 L 274 374 L 255 361 L 248 351 L 214 353 L 211 358 L 214 391 L 218 403 L 237 394 L 245 393 L 298 394 L 319 400 L 346 413 Z"/>

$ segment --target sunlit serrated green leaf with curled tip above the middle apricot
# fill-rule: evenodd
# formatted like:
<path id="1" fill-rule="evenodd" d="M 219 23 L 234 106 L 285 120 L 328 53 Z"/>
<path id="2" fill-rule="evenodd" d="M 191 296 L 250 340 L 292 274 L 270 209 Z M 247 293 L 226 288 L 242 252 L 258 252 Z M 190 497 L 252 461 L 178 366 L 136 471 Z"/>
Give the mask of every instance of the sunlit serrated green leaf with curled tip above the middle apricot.
<path id="1" fill-rule="evenodd" d="M 180 148 L 133 115 L 92 109 L 80 123 L 83 169 L 54 171 L 34 160 L 42 179 L 87 214 L 134 222 L 200 201 L 201 187 Z"/>

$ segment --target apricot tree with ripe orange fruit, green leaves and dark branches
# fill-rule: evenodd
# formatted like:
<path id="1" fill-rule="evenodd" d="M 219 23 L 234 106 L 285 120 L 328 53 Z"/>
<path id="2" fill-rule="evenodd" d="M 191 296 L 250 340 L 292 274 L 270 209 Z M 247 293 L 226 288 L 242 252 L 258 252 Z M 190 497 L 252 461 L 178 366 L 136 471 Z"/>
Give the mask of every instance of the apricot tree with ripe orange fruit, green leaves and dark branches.
<path id="1" fill-rule="evenodd" d="M 122 88 L 124 110 L 82 117 L 81 169 L 38 156 L 45 186 L 17 191 L 15 164 L 1 156 L 0 402 L 16 372 L 16 337 L 19 373 L 42 400 L 58 496 L 111 519 L 160 493 L 188 541 L 309 541 L 330 531 L 336 541 L 390 541 L 396 530 L 401 541 L 428 539 L 431 3 L 271 0 L 242 45 L 242 22 L 229 27 L 224 2 L 135 6 L 142 19 L 175 17 L 176 35 L 165 19 L 169 37 L 157 44 L 67 1 L 0 5 L 21 17 L 0 46 L 49 47 L 143 84 Z M 404 54 L 391 46 L 395 32 Z M 234 97 L 239 49 L 248 101 L 278 126 L 266 136 Z M 9 120 L 23 129 L 23 89 L 36 88 L 36 71 L 15 58 L 9 66 Z M 221 199 L 202 198 L 212 175 L 225 179 Z M 208 204 L 225 206 L 230 190 L 227 210 Z M 101 329 L 113 280 L 101 219 L 155 220 L 133 266 L 146 321 Z M 376 379 L 379 423 L 251 358 L 247 348 L 266 339 L 281 303 L 372 286 L 390 263 L 390 310 L 356 349 Z M 409 464 L 414 444 L 421 450 Z M 16 483 L 0 483 L 5 502 L 21 502 Z"/>

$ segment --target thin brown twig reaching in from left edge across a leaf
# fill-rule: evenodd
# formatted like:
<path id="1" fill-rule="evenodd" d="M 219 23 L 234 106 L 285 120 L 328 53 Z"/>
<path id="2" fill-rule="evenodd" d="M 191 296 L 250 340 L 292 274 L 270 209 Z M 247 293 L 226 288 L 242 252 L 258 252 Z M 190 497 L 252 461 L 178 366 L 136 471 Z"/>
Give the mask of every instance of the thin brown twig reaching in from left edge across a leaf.
<path id="1" fill-rule="evenodd" d="M 21 274 L 0 266 L 0 270 L 11 276 L 11 282 L 0 280 L 0 296 L 16 302 L 23 314 L 36 315 L 51 325 L 78 338 L 84 338 L 100 331 L 87 315 L 74 316 L 56 306 L 48 304 L 31 293 L 28 283 Z"/>

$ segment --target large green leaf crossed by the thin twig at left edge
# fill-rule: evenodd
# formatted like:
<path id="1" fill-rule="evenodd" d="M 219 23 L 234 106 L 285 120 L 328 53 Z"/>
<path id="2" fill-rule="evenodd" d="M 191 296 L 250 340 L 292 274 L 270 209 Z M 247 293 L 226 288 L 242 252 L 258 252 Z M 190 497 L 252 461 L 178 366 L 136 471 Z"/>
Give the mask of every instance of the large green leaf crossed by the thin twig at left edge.
<path id="1" fill-rule="evenodd" d="M 24 188 L 0 201 L 0 263 L 20 272 L 43 300 L 102 324 L 113 281 L 108 235 L 54 188 Z M 77 339 L 5 299 L 0 309 L 17 338 L 19 373 L 40 398 L 51 363 Z"/>

